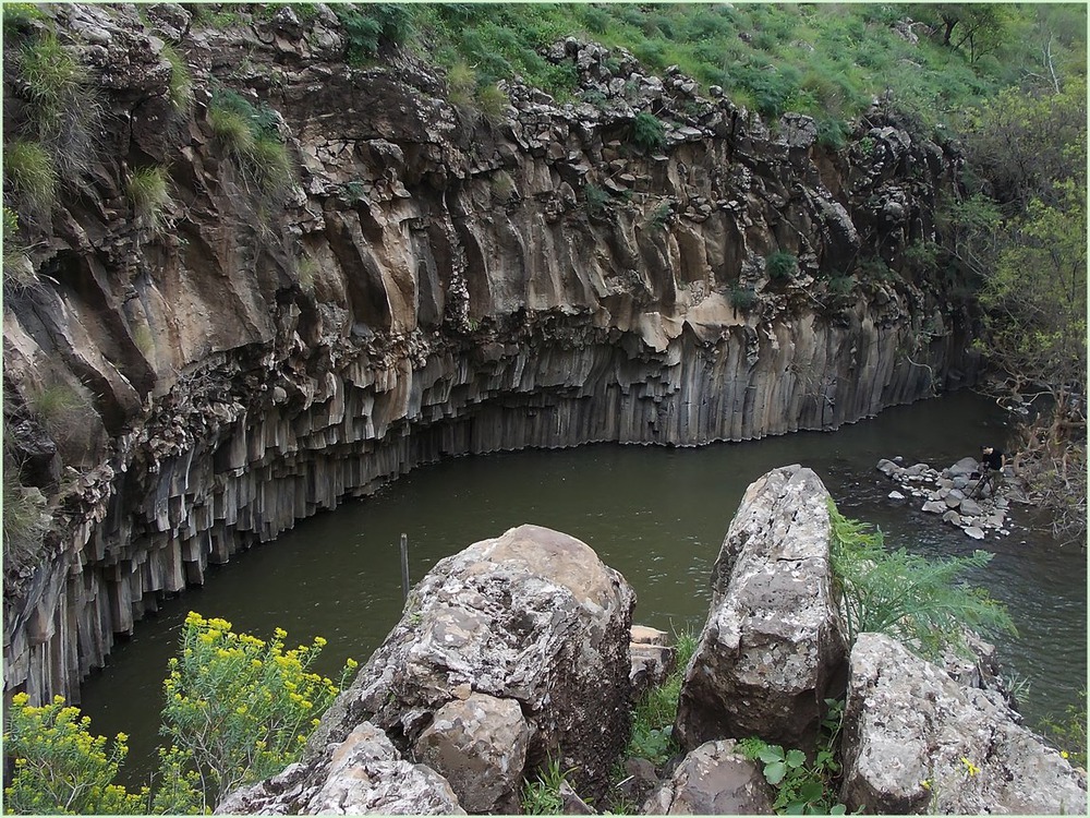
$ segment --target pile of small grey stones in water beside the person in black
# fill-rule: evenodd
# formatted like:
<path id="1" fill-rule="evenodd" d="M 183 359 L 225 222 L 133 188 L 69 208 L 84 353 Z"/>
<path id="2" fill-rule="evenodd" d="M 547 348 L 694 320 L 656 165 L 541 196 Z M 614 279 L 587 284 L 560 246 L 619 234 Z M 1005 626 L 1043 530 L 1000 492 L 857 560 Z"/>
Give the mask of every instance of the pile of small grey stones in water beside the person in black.
<path id="1" fill-rule="evenodd" d="M 1016 492 L 1006 482 L 1007 474 L 995 481 L 996 488 L 981 479 L 980 462 L 962 457 L 947 469 L 937 471 L 927 464 L 901 466 L 899 457 L 879 460 L 877 470 L 904 486 L 889 492 L 891 500 L 907 496 L 923 500 L 922 510 L 942 515 L 945 522 L 960 528 L 973 540 L 989 533 L 1006 537 L 1010 533 L 1007 515 Z"/>

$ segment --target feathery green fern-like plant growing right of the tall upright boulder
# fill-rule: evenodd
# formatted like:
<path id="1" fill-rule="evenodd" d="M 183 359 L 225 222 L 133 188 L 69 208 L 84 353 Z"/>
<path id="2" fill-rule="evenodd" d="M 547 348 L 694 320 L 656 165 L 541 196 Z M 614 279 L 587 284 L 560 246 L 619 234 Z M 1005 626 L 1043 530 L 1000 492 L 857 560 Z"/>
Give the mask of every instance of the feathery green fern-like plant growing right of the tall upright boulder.
<path id="1" fill-rule="evenodd" d="M 1006 609 L 961 578 L 992 560 L 928 560 L 905 549 L 886 551 L 881 529 L 844 517 L 829 501 L 831 555 L 849 643 L 864 631 L 886 634 L 924 659 L 947 649 L 968 654 L 967 631 L 1017 635 Z"/>

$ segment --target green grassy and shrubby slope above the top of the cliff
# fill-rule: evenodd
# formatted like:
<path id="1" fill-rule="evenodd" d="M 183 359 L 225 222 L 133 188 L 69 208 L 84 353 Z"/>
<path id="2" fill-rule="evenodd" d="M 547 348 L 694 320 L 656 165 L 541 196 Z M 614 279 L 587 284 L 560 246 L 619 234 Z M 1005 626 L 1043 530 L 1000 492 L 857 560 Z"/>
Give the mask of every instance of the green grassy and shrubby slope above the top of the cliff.
<path id="1" fill-rule="evenodd" d="M 472 67 L 479 86 L 518 75 L 569 101 L 573 72 L 542 51 L 576 36 L 625 48 L 653 73 L 677 65 L 766 118 L 812 116 L 834 146 L 877 96 L 921 127 L 956 128 L 1003 88 L 1058 89 L 1086 64 L 1087 10 L 1075 3 L 375 3 L 336 12 L 361 62 L 404 44 L 447 69 Z"/>

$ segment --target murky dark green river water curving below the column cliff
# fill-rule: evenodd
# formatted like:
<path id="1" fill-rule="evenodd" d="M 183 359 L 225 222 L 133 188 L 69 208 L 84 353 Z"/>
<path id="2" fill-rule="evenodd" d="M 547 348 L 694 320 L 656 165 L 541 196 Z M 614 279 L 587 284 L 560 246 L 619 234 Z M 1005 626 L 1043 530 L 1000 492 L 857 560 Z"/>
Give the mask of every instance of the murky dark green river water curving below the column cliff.
<path id="1" fill-rule="evenodd" d="M 1006 672 L 1031 682 L 1022 711 L 1036 725 L 1074 702 L 1087 683 L 1085 553 L 1020 530 L 1017 524 L 1028 520 L 1017 510 L 1009 537 L 973 542 L 933 515 L 887 500 L 894 485 L 874 468 L 896 455 L 942 468 L 1004 436 L 993 404 L 957 394 L 889 409 L 834 434 L 685 449 L 597 444 L 419 469 L 373 497 L 301 521 L 216 570 L 204 588 L 165 603 L 87 679 L 83 707 L 94 732 L 130 734 L 131 774 L 146 774 L 167 660 L 190 610 L 261 637 L 283 627 L 292 645 L 324 636 L 326 673 L 348 657 L 362 664 L 400 617 L 401 532 L 416 581 L 472 542 L 522 522 L 548 526 L 589 543 L 625 575 L 638 594 L 637 622 L 699 629 L 712 564 L 746 488 L 770 469 L 800 462 L 818 472 L 841 512 L 880 525 L 894 548 L 995 553 L 973 582 L 1005 602 L 1018 625 L 1020 638 L 998 648 Z"/>

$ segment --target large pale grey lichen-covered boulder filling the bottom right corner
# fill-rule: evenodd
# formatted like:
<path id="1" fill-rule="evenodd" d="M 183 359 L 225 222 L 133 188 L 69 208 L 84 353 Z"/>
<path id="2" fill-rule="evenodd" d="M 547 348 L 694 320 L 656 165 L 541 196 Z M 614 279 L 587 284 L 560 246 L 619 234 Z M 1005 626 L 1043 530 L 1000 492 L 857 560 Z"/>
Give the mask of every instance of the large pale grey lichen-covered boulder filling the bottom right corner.
<path id="1" fill-rule="evenodd" d="M 861 634 L 844 717 L 848 810 L 1086 815 L 1086 775 L 899 642 Z"/>

